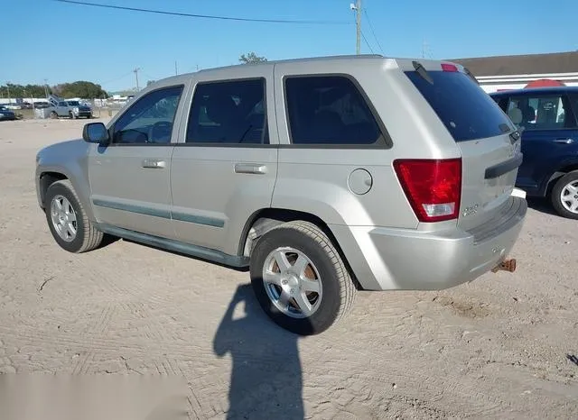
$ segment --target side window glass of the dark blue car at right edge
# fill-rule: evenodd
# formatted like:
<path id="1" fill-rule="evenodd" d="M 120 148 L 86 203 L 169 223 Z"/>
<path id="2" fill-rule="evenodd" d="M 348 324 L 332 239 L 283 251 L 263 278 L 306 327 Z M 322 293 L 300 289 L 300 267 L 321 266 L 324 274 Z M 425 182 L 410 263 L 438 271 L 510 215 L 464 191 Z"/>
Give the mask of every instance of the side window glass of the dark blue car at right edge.
<path id="1" fill-rule="evenodd" d="M 571 106 L 561 95 L 512 96 L 508 102 L 508 115 L 526 130 L 559 130 L 576 125 Z"/>

